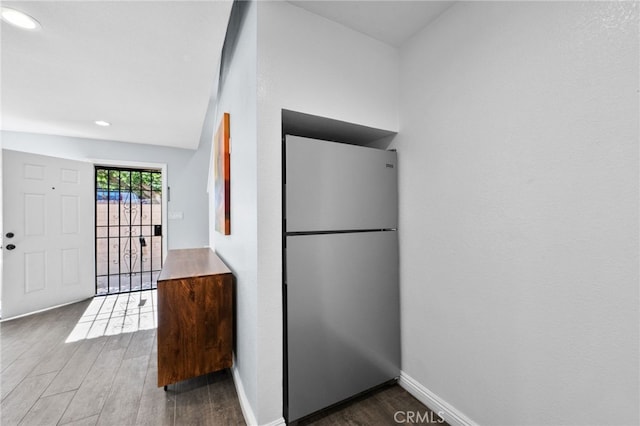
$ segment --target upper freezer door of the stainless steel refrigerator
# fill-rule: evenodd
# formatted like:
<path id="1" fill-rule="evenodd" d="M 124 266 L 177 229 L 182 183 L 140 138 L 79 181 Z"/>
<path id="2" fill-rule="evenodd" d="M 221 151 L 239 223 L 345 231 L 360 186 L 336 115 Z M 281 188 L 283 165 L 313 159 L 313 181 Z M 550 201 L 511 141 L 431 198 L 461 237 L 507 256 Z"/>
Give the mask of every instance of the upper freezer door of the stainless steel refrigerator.
<path id="1" fill-rule="evenodd" d="M 395 229 L 395 152 L 286 137 L 287 232 Z"/>

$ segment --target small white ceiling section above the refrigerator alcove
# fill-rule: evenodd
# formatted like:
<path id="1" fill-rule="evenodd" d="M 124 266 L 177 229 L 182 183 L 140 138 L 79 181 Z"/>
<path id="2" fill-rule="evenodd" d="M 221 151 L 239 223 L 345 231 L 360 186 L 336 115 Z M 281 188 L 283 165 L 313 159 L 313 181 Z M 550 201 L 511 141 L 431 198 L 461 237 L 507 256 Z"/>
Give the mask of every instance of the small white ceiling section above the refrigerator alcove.
<path id="1" fill-rule="evenodd" d="M 454 1 L 431 0 L 302 0 L 289 1 L 376 40 L 400 47 Z"/>

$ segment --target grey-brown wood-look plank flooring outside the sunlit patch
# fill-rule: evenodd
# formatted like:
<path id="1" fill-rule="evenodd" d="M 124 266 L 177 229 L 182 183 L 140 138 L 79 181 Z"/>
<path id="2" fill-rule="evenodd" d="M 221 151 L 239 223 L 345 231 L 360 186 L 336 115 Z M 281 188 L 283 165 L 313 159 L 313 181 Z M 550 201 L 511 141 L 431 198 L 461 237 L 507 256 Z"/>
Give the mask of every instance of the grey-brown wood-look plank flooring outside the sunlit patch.
<path id="1" fill-rule="evenodd" d="M 0 324 L 2 426 L 245 424 L 229 370 L 170 385 L 167 392 L 156 386 L 155 328 L 69 339 L 90 304 L 88 300 Z M 127 309 L 134 310 L 132 306 Z M 396 385 L 299 425 L 446 424 L 427 412 Z M 410 421 L 408 415 L 420 416 L 419 421 Z"/>

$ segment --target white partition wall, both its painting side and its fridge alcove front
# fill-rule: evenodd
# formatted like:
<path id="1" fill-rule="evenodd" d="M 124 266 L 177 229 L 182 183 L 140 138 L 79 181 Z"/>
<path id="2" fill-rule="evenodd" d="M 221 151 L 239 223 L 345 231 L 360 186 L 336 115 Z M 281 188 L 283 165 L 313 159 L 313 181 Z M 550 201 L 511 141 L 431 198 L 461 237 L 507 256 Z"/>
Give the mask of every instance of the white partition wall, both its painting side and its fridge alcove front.
<path id="1" fill-rule="evenodd" d="M 231 236 L 212 240 L 238 279 L 237 371 L 258 424 L 283 414 L 281 109 L 397 130 L 397 77 L 389 46 L 289 3 L 250 6 L 216 114 L 231 114 Z"/>

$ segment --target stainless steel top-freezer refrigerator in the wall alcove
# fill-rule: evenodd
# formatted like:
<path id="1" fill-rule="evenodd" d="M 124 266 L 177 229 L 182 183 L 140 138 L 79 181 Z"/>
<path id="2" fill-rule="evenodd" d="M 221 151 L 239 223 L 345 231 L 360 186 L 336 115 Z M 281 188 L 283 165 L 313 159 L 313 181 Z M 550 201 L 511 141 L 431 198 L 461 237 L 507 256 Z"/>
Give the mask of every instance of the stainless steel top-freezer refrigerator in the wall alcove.
<path id="1" fill-rule="evenodd" d="M 286 136 L 285 416 L 399 376 L 395 152 Z"/>

